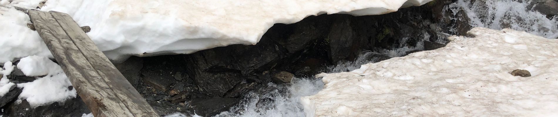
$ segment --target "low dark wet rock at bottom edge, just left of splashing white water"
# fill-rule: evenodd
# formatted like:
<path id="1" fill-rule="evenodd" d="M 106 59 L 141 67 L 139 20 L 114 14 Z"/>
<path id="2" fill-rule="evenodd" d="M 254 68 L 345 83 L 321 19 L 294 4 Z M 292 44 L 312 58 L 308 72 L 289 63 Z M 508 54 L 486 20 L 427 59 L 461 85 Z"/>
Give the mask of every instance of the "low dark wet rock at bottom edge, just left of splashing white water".
<path id="1" fill-rule="evenodd" d="M 222 111 L 228 111 L 230 107 L 237 105 L 237 98 L 194 98 L 190 104 L 191 110 L 200 116 L 214 116 Z"/>

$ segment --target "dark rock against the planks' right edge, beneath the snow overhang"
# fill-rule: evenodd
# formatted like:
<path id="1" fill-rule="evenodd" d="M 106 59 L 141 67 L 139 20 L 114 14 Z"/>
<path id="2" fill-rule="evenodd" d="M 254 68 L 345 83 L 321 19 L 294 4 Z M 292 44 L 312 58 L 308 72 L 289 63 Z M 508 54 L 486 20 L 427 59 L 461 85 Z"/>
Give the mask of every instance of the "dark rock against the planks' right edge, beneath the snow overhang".
<path id="1" fill-rule="evenodd" d="M 141 80 L 140 70 L 143 67 L 143 59 L 140 57 L 130 57 L 123 63 L 113 64 L 120 73 L 126 77 L 128 82 L 130 82 L 134 88 L 137 88 Z"/>

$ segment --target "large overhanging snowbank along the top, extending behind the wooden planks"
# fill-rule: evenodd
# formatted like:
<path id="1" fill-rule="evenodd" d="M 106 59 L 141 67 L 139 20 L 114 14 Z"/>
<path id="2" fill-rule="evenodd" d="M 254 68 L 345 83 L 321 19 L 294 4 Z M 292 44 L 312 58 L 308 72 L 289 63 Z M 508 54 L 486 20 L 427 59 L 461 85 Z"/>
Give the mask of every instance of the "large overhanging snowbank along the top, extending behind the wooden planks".
<path id="1" fill-rule="evenodd" d="M 48 0 L 41 10 L 65 12 L 80 26 L 90 26 L 89 37 L 107 57 L 122 60 L 128 55 L 187 54 L 231 44 L 256 44 L 275 23 L 295 23 L 324 13 L 385 14 L 429 1 Z M 0 1 L 5 6 L 0 7 L 0 62 L 49 55 L 39 35 L 26 27 L 28 17 L 11 8 L 36 8 L 39 2 Z"/>

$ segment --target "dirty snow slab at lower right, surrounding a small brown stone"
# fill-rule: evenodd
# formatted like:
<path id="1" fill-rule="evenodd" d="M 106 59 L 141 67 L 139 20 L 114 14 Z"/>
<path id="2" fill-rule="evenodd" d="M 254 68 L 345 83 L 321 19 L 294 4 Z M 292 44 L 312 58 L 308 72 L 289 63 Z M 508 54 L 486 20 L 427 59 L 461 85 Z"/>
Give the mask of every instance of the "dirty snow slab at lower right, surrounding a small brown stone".
<path id="1" fill-rule="evenodd" d="M 558 116 L 558 40 L 473 28 L 446 47 L 318 74 L 306 116 Z M 519 47 L 519 48 L 518 48 Z M 532 77 L 512 76 L 525 69 Z"/>

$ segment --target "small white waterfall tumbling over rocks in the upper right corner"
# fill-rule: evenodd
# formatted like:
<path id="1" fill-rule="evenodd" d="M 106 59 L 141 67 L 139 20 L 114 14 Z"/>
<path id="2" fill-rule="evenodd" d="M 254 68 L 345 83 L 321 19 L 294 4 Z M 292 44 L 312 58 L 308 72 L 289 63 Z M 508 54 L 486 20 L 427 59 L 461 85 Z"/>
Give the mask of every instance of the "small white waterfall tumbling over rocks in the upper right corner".
<path id="1" fill-rule="evenodd" d="M 463 10 L 473 27 L 511 28 L 545 38 L 558 38 L 558 16 L 546 16 L 535 11 L 530 4 L 532 0 L 460 0 L 449 4 L 446 9 L 450 9 L 453 16 Z"/>

